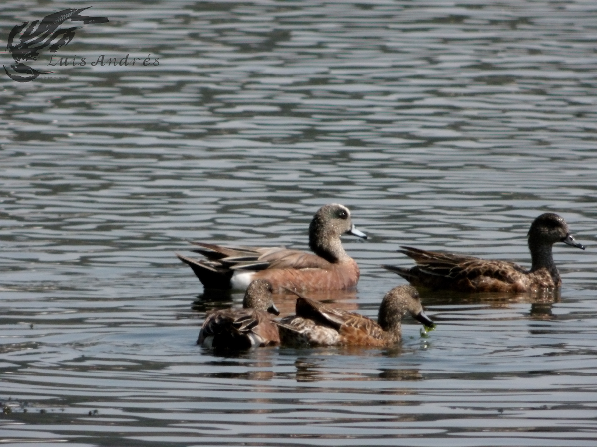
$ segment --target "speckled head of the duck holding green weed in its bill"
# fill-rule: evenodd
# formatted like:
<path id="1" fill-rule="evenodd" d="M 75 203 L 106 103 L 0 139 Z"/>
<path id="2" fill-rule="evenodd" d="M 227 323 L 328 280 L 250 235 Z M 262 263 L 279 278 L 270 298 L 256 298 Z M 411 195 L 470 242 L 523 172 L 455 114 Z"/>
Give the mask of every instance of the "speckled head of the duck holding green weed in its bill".
<path id="1" fill-rule="evenodd" d="M 377 324 L 384 331 L 399 332 L 402 318 L 408 314 L 427 327 L 435 326 L 423 311 L 418 290 L 412 285 L 399 285 L 386 293 L 383 300 L 381 300 Z"/>

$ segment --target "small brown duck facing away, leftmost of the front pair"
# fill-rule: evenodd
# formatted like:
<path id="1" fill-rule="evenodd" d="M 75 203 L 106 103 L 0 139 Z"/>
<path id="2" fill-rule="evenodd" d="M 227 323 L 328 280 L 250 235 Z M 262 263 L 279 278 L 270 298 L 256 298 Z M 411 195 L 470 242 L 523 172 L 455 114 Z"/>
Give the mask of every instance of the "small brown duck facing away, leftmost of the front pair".
<path id="1" fill-rule="evenodd" d="M 273 304 L 272 285 L 265 280 L 249 284 L 242 309 L 208 313 L 197 344 L 214 349 L 249 349 L 280 344 L 278 326 L 271 315 L 279 315 Z"/>

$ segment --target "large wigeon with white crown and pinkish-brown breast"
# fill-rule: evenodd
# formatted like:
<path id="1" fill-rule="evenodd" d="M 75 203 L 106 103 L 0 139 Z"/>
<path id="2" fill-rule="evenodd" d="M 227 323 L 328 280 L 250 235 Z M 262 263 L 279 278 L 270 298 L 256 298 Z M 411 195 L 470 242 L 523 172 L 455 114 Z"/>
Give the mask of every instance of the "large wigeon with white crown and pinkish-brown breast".
<path id="1" fill-rule="evenodd" d="M 314 253 L 193 242 L 202 247 L 193 251 L 207 259 L 176 256 L 193 269 L 205 288 L 242 289 L 259 278 L 269 281 L 274 290 L 343 289 L 355 287 L 359 280 L 355 260 L 342 247 L 343 234 L 367 238 L 352 224 L 348 208 L 332 203 L 322 206 L 309 226 L 309 247 Z"/>

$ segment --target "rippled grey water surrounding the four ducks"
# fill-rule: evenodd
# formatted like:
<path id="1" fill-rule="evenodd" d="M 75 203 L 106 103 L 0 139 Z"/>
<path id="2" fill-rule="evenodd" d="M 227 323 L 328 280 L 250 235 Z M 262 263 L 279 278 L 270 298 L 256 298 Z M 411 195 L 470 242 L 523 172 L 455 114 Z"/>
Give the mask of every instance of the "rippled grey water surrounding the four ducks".
<path id="1" fill-rule="evenodd" d="M 68 7 L 4 2 L 2 29 Z M 595 445 L 594 2 L 90 11 L 110 23 L 57 54 L 159 65 L 0 78 L 4 445 Z M 174 252 L 306 249 L 333 201 L 370 239 L 345 238 L 359 287 L 327 299 L 368 316 L 401 244 L 528 266 L 552 210 L 587 250 L 555 247 L 559 296 L 424 294 L 438 327 L 393 349 L 195 346 L 242 294 Z"/>

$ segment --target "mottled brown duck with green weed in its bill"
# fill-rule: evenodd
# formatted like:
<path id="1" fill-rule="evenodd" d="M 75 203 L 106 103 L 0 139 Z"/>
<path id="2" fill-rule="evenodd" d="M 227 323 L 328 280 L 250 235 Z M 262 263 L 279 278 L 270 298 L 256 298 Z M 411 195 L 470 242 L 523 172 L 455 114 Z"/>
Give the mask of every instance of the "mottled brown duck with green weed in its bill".
<path id="1" fill-rule="evenodd" d="M 428 327 L 434 326 L 412 285 L 399 285 L 386 293 L 377 322 L 297 295 L 296 315 L 276 322 L 283 346 L 390 346 L 400 342 L 402 317 L 407 314 Z"/>

